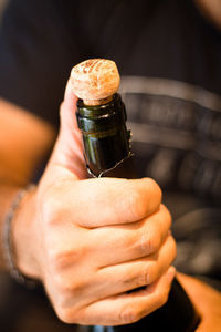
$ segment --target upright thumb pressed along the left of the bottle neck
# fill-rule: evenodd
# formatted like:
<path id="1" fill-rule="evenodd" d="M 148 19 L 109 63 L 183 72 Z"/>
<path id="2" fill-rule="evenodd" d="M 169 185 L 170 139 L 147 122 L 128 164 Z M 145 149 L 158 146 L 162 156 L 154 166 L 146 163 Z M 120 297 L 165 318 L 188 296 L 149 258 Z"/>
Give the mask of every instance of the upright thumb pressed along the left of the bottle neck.
<path id="1" fill-rule="evenodd" d="M 64 101 L 60 107 L 60 132 L 49 163 L 50 172 L 54 168 L 62 173 L 66 170 L 72 173 L 72 177 L 83 179 L 87 177 L 82 134 L 76 122 L 76 101 L 73 93 L 71 80 L 67 81 Z M 49 169 L 48 169 L 49 170 Z M 57 173 L 57 172 L 55 172 Z"/>

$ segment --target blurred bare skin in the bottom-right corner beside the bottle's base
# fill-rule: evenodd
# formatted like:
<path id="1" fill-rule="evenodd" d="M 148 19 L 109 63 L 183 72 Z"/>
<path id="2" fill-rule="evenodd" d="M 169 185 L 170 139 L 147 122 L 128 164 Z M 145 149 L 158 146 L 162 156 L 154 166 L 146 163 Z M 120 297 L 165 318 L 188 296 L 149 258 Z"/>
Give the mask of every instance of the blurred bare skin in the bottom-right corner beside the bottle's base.
<path id="1" fill-rule="evenodd" d="M 178 279 L 201 317 L 196 332 L 220 332 L 221 292 L 189 276 L 179 273 Z"/>

